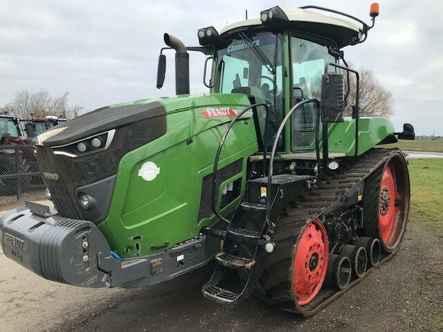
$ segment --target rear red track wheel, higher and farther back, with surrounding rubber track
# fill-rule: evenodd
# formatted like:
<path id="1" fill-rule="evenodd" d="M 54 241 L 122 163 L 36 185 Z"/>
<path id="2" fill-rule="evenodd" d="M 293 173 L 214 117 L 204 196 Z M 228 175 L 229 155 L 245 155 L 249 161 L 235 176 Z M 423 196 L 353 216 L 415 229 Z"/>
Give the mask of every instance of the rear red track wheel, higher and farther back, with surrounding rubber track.
<path id="1" fill-rule="evenodd" d="M 386 252 L 397 250 L 403 240 L 409 199 L 408 165 L 404 155 L 396 151 L 368 177 L 363 194 L 365 234 L 377 237 Z"/>

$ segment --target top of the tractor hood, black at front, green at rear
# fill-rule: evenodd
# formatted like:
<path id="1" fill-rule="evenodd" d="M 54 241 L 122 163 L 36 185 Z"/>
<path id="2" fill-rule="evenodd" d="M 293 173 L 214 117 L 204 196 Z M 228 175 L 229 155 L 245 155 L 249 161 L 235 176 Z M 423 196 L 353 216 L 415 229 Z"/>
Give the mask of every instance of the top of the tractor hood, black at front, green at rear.
<path id="1" fill-rule="evenodd" d="M 237 93 L 211 93 L 204 95 L 187 95 L 175 98 L 159 98 L 155 100 L 136 100 L 133 103 L 114 104 L 86 113 L 78 118 L 59 124 L 42 133 L 36 139 L 36 145 L 44 147 L 61 147 L 73 142 L 80 142 L 91 136 L 127 127 L 136 122 L 156 119 L 155 128 L 147 122 L 147 130 L 165 132 L 167 115 L 183 113 L 183 122 L 189 124 L 191 118 L 201 129 L 209 129 L 220 121 L 227 122 L 248 106 L 246 95 Z M 168 117 L 169 118 L 169 117 Z M 176 118 L 176 117 L 174 117 Z M 201 118 L 203 121 L 199 121 Z M 206 119 L 206 120 L 205 120 Z M 217 119 L 209 124 L 208 119 Z M 177 120 L 175 121 L 177 122 Z M 161 127 L 161 128 L 159 128 Z"/>

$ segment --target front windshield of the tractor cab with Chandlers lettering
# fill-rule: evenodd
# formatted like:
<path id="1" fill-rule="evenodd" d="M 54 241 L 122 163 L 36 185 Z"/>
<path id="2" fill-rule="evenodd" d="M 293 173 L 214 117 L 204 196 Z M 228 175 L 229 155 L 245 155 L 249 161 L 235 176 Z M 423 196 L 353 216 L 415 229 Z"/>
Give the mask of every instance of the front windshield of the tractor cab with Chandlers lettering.
<path id="1" fill-rule="evenodd" d="M 220 93 L 248 93 L 253 101 L 269 107 L 268 145 L 271 145 L 282 120 L 282 35 L 270 32 L 250 34 L 253 45 L 260 48 L 275 68 L 266 65 L 253 48 L 237 36 L 221 46 L 217 52 L 214 91 Z M 264 107 L 257 108 L 258 121 L 264 140 Z"/>

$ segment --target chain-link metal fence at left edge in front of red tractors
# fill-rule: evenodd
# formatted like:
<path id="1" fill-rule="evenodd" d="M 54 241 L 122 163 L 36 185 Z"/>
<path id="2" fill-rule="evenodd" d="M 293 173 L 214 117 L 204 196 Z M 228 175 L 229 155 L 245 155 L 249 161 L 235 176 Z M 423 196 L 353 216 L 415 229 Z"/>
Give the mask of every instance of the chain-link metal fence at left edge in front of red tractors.
<path id="1" fill-rule="evenodd" d="M 0 145 L 0 205 L 46 197 L 33 145 Z"/>

